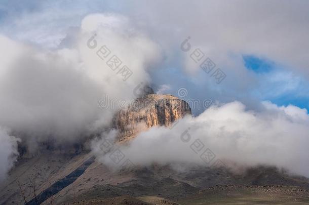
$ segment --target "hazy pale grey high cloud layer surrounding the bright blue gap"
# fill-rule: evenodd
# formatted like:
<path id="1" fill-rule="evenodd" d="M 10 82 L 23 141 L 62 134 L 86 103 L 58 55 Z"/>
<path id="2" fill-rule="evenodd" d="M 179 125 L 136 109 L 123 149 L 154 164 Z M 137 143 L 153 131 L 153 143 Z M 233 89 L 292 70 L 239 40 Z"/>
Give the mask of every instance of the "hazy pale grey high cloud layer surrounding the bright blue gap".
<path id="1" fill-rule="evenodd" d="M 159 0 L 149 3 L 136 0 L 121 5 L 114 1 L 93 1 L 87 4 L 74 1 L 65 6 L 60 1 L 52 1 L 41 3 L 37 7 L 33 12 L 27 10 L 15 16 L 13 13 L 10 17 L 15 23 L 7 21 L 1 26 L 2 30 L 18 39 L 30 40 L 47 48 L 57 48 L 59 43 L 55 42 L 59 42 L 64 36 L 68 37 L 66 34 L 70 27 L 79 27 L 85 15 L 98 11 L 121 13 L 131 20 L 130 26 L 138 27 L 160 44 L 165 52 L 162 67 L 172 67 L 178 73 L 185 71 L 186 79 L 177 78 L 175 72 L 166 73 L 168 69 L 164 70 L 163 75 L 159 73 L 160 77 L 150 77 L 156 85 L 170 84 L 174 94 L 178 88 L 187 87 L 193 82 L 190 85 L 192 88 L 187 88 L 192 90 L 189 94 L 191 98 L 215 98 L 222 102 L 237 99 L 246 105 L 254 104 L 256 99 L 251 96 L 252 88 L 257 87 L 258 81 L 265 76 L 249 72 L 244 66 L 243 54 L 267 58 L 289 69 L 294 76 L 303 74 L 305 79 L 309 79 L 309 43 L 306 35 L 309 31 L 309 4 L 305 1 L 226 3 Z M 70 12 L 67 12 L 67 8 L 70 8 Z M 88 21 L 87 29 L 96 26 L 97 19 L 102 18 L 99 14 L 92 16 L 93 22 Z M 104 26 L 119 24 L 120 21 L 112 20 L 112 16 L 110 14 L 103 17 Z M 191 51 L 183 53 L 180 50 L 180 44 L 187 36 L 191 37 L 192 50 L 200 48 L 205 56 L 210 57 L 226 73 L 227 77 L 219 86 L 198 64 L 192 63 L 189 58 Z M 159 68 L 156 70 L 162 72 Z M 192 76 L 194 80 L 189 79 Z M 293 79 L 286 83 L 295 86 Z M 265 98 L 262 96 L 259 99 Z"/>

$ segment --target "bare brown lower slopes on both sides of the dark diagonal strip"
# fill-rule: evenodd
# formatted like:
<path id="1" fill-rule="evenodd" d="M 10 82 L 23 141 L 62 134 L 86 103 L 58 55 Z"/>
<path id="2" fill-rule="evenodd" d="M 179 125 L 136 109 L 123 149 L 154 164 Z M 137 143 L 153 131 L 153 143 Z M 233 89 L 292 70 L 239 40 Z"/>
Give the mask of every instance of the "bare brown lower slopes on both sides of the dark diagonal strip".
<path id="1" fill-rule="evenodd" d="M 87 152 L 78 155 L 46 152 L 30 159 L 20 160 L 16 168 L 10 172 L 7 181 L 0 187 L 0 204 L 23 204 L 23 197 L 16 183 L 17 178 L 25 193 L 26 200 L 30 200 L 33 198 L 33 191 L 29 179 L 36 183 L 36 193 L 40 193 L 57 180 L 79 168 L 90 156 L 91 154 Z M 115 172 L 94 161 L 72 184 L 59 191 L 55 195 L 54 201 L 58 204 L 65 204 L 85 199 L 96 200 L 127 195 L 139 200 L 143 199 L 140 197 L 151 196 L 180 203 L 181 201 L 185 202 L 189 197 L 203 198 L 204 195 L 212 195 L 211 190 L 201 192 L 202 195 L 199 193 L 199 191 L 207 190 L 209 187 L 272 184 L 298 186 L 302 190 L 309 188 L 308 179 L 290 176 L 276 168 L 269 167 L 252 168 L 238 175 L 226 169 L 210 169 L 193 165 L 185 172 L 176 171 L 170 166 L 160 165 L 152 165 L 147 168 L 136 167 L 135 170 L 131 171 Z M 253 188 L 239 189 L 238 187 L 230 189 L 235 189 L 235 193 L 239 191 L 242 194 L 247 193 L 248 190 L 253 190 Z M 225 191 L 225 189 L 222 190 L 224 193 L 230 192 Z M 217 190 L 219 195 L 222 195 L 222 190 Z M 258 193 L 263 194 L 264 192 L 259 191 Z M 304 192 L 295 193 L 297 194 L 295 197 L 293 196 L 294 198 L 304 196 Z M 282 195 L 287 194 L 282 193 Z M 215 194 L 212 196 L 215 196 Z M 280 194 L 277 196 L 279 197 Z M 146 199 L 144 201 L 151 203 Z M 49 200 L 43 204 L 49 204 Z"/>

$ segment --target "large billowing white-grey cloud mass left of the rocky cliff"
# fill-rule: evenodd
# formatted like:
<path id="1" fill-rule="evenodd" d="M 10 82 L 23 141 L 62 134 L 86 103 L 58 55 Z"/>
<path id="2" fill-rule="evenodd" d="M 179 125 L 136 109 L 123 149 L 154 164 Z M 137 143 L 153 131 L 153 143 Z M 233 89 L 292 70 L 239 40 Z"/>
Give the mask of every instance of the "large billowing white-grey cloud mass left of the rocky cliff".
<path id="1" fill-rule="evenodd" d="M 34 48 L 5 36 L 0 45 L 0 126 L 31 141 L 33 149 L 32 142 L 75 142 L 110 126 L 118 107 L 100 109 L 100 99 L 132 99 L 160 57 L 155 43 L 117 15 L 86 16 L 62 40 L 62 49 Z M 112 56 L 122 62 L 119 67 L 108 65 Z M 130 75 L 121 72 L 124 66 Z"/>

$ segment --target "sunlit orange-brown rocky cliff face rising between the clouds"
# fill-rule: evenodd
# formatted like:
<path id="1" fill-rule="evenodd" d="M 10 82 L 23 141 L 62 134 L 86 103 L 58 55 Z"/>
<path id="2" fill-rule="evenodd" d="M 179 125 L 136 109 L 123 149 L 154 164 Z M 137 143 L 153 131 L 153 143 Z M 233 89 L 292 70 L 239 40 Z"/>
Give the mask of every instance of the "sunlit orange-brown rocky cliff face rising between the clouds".
<path id="1" fill-rule="evenodd" d="M 148 94 L 118 113 L 117 129 L 125 139 L 152 126 L 170 126 L 186 114 L 191 114 L 191 109 L 185 101 L 172 95 Z"/>

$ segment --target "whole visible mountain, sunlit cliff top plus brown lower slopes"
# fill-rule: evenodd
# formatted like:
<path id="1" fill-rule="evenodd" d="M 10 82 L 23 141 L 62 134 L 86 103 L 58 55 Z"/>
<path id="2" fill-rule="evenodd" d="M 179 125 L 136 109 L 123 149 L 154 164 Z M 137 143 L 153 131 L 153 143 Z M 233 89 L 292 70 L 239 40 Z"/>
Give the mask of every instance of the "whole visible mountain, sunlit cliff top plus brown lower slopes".
<path id="1" fill-rule="evenodd" d="M 172 95 L 147 94 L 135 102 L 116 117 L 114 127 L 119 131 L 119 143 L 153 126 L 171 126 L 177 119 L 191 114 L 188 104 Z M 89 161 L 94 155 L 85 147 L 82 151 L 81 148 L 75 152 L 67 150 L 67 153 L 41 150 L 34 156 L 25 152 L 0 185 L 0 204 L 23 204 L 23 198 L 28 202 L 32 199 L 29 204 L 36 204 L 33 198 L 41 203 L 54 193 L 42 204 L 201 204 L 209 197 L 214 202 L 217 196 L 233 196 L 238 201 L 242 200 L 239 194 L 261 197 L 264 191 L 261 186 L 266 185 L 282 186 L 266 187 L 269 194 L 277 193 L 275 198 L 284 197 L 290 189 L 302 190 L 286 194 L 290 198 L 307 197 L 309 188 L 307 178 L 274 167 L 248 168 L 236 174 L 226 167 L 180 163 L 115 171 L 96 159 Z"/>

